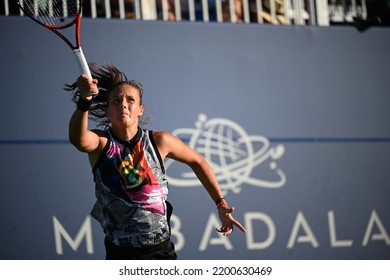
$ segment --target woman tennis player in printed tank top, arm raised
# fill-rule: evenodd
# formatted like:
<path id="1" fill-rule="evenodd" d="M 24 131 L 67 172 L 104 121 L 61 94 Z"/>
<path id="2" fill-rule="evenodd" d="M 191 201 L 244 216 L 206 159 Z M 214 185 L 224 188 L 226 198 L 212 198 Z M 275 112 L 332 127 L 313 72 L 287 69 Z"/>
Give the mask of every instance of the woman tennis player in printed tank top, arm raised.
<path id="1" fill-rule="evenodd" d="M 142 85 L 112 65 L 90 64 L 90 69 L 93 79 L 83 74 L 65 85 L 77 104 L 69 139 L 88 154 L 97 199 L 91 215 L 104 230 L 106 259 L 177 259 L 166 158 L 187 164 L 199 178 L 216 203 L 218 232 L 229 235 L 237 227 L 245 233 L 206 160 L 170 133 L 141 128 Z M 89 119 L 98 121 L 99 129 L 89 130 Z"/>

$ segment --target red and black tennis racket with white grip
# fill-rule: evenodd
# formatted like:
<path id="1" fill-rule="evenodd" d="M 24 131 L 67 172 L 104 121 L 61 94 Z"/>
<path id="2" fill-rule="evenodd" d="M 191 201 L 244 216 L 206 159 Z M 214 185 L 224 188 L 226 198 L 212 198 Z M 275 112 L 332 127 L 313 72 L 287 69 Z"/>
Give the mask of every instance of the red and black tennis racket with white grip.
<path id="1" fill-rule="evenodd" d="M 28 17 L 58 35 L 73 51 L 82 74 L 92 78 L 80 44 L 82 0 L 20 0 L 18 5 Z M 75 25 L 75 44 L 59 30 Z"/>

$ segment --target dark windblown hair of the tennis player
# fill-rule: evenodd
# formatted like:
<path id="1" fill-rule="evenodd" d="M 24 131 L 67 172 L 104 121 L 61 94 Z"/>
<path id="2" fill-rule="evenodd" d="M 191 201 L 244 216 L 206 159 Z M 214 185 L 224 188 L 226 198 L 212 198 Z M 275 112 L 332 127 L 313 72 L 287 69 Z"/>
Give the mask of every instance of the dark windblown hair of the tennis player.
<path id="1" fill-rule="evenodd" d="M 129 80 L 127 76 L 113 65 L 89 64 L 91 75 L 98 80 L 99 94 L 93 98 L 92 105 L 89 109 L 89 119 L 98 123 L 98 127 L 107 128 L 110 125 L 110 119 L 106 114 L 108 107 L 108 96 L 117 86 L 127 84 L 139 91 L 140 105 L 142 105 L 143 89 L 142 84 Z M 77 87 L 77 81 L 73 84 L 65 84 L 64 90 L 73 92 L 72 101 L 77 104 L 80 97 L 80 91 Z"/>

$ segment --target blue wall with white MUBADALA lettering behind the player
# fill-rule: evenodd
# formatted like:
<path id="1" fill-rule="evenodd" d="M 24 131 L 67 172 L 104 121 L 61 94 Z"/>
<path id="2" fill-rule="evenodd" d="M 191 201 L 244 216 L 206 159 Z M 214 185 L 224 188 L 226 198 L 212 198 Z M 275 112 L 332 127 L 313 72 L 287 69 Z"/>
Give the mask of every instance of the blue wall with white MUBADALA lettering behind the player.
<path id="1" fill-rule="evenodd" d="M 102 259 L 92 174 L 67 140 L 73 54 L 29 19 L 0 26 L 0 258 Z M 167 162 L 181 259 L 390 258 L 390 29 L 84 19 L 81 31 L 88 61 L 144 84 L 146 128 L 208 158 L 248 229 L 217 235 L 211 199 Z"/>

